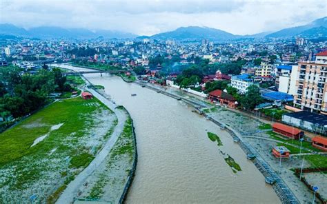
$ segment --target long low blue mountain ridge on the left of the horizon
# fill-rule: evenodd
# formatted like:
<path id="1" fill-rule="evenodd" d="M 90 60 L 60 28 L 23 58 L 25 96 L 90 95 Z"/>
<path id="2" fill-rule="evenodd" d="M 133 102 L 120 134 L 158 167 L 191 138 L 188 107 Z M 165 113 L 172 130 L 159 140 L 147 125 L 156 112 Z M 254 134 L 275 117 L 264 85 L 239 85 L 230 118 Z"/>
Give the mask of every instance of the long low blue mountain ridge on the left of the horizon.
<path id="1" fill-rule="evenodd" d="M 92 39 L 97 37 L 103 37 L 106 39 L 129 39 L 137 37 L 136 34 L 127 32 L 112 30 L 95 30 L 93 32 L 83 28 L 66 29 L 60 27 L 41 26 L 26 30 L 7 23 L 0 24 L 0 34 L 39 39 Z"/>

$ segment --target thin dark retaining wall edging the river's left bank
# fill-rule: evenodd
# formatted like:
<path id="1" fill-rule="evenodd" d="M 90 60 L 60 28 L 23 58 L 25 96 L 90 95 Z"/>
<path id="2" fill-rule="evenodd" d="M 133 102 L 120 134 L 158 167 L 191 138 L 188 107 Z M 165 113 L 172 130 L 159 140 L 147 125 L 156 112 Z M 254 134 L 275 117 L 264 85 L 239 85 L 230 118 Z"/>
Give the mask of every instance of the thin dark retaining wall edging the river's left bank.
<path id="1" fill-rule="evenodd" d="M 81 77 L 87 81 L 90 85 L 93 85 L 88 79 L 86 79 L 85 76 L 81 75 Z M 94 90 L 95 92 L 97 92 L 98 94 L 100 94 L 101 96 L 103 96 L 103 94 L 101 94 L 101 92 L 99 92 L 97 89 L 95 88 L 92 88 L 92 90 Z M 106 96 L 103 96 L 105 99 Z M 128 178 L 127 178 L 127 181 L 125 183 L 125 186 L 123 187 L 123 192 L 121 193 L 121 197 L 119 198 L 119 204 L 123 203 L 123 201 L 125 201 L 126 199 L 126 196 L 127 196 L 127 193 L 128 193 L 128 190 L 130 188 L 130 185 L 132 185 L 132 180 L 134 179 L 134 176 L 135 176 L 135 170 L 136 170 L 136 167 L 137 167 L 137 140 L 136 140 L 136 134 L 135 134 L 135 127 L 134 127 L 134 122 L 133 122 L 133 119 L 132 117 L 130 116 L 130 113 L 128 112 L 128 110 L 126 110 L 125 107 L 123 107 L 122 105 L 119 105 L 117 106 L 116 108 L 123 108 L 123 110 L 126 112 L 126 114 L 130 117 L 130 120 L 131 120 L 131 124 L 132 124 L 132 139 L 133 139 L 133 145 L 135 147 L 135 152 L 134 152 L 134 155 L 133 155 L 133 164 L 132 164 L 132 168 L 128 174 Z"/>

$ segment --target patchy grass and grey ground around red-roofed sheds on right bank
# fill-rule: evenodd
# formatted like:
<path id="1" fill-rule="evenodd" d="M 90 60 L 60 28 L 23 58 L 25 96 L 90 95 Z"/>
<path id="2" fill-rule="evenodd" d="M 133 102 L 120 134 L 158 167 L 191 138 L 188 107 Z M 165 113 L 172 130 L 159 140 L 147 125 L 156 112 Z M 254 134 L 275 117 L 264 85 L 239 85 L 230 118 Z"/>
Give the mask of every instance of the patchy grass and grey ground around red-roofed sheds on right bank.
<path id="1" fill-rule="evenodd" d="M 270 165 L 270 167 L 273 168 L 275 172 L 279 173 L 279 159 L 276 159 L 275 156 L 271 153 L 273 147 L 277 145 L 284 145 L 290 150 L 292 150 L 291 154 L 293 153 L 299 153 L 299 142 L 292 140 L 284 140 L 275 135 L 275 133 L 271 132 L 270 128 L 264 126 L 264 123 L 261 123 L 261 121 L 252 119 L 249 116 L 232 112 L 226 108 L 223 108 L 221 106 L 218 106 L 217 108 L 210 110 L 210 112 L 207 113 L 210 117 L 217 119 L 218 121 L 221 121 L 221 123 L 224 123 L 226 125 L 229 125 L 230 128 L 233 128 L 234 130 L 237 130 L 239 132 L 244 140 L 259 153 L 259 155 Z M 275 141 L 273 141 L 275 140 Z M 296 145 L 296 147 L 293 147 L 292 145 Z M 306 143 L 303 144 L 302 153 L 308 152 L 310 149 L 306 150 L 306 147 L 309 147 L 313 150 L 319 151 L 313 147 L 311 147 L 310 143 L 307 145 Z M 304 161 L 304 167 L 317 167 L 319 165 L 316 163 L 315 157 L 319 157 L 321 159 L 327 159 L 324 155 L 312 155 L 312 156 L 306 156 Z M 295 176 L 293 169 L 301 167 L 302 163 L 302 157 L 300 156 L 294 156 L 290 159 L 283 159 L 281 163 L 281 172 L 279 176 L 281 179 L 284 180 L 284 182 L 290 187 L 290 190 L 292 190 L 295 194 L 295 196 L 299 199 L 301 203 L 310 203 L 312 202 L 313 193 L 311 190 L 304 185 L 297 176 Z M 322 166 L 321 166 L 322 165 Z M 321 164 L 319 167 L 323 167 L 324 165 Z M 306 174 L 304 174 L 304 177 Z M 319 183 L 312 183 L 313 185 L 323 185 L 321 182 L 326 180 L 326 174 L 324 172 L 315 174 L 317 176 L 316 181 L 320 181 Z M 326 198 L 326 194 L 322 195 L 324 198 Z"/>

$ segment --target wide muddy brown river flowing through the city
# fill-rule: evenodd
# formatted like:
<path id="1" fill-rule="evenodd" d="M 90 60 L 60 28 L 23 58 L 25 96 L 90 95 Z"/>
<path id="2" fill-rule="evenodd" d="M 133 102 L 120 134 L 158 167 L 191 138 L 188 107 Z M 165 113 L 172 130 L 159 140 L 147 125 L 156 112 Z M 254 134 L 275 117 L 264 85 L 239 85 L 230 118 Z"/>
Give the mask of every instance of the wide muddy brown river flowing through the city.
<path id="1" fill-rule="evenodd" d="M 135 125 L 139 157 L 126 203 L 280 203 L 227 132 L 182 101 L 102 75 L 84 76 L 126 107 Z M 217 134 L 224 145 L 210 141 L 207 132 Z M 233 173 L 219 150 L 232 156 L 241 171 Z"/>

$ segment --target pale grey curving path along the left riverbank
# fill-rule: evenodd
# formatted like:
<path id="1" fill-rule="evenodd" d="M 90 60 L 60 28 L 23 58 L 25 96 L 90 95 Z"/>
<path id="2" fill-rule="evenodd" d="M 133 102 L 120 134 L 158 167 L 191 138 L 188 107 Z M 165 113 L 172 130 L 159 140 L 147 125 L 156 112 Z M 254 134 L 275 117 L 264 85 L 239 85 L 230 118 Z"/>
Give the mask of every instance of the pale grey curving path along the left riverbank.
<path id="1" fill-rule="evenodd" d="M 87 82 L 88 83 L 88 82 Z M 93 96 L 97 97 L 99 101 L 101 101 L 103 104 L 107 105 L 108 108 L 110 108 L 113 112 L 115 112 L 118 124 L 115 127 L 114 132 L 110 136 L 110 139 L 106 142 L 106 144 L 103 146 L 102 150 L 97 154 L 95 159 L 86 167 L 81 173 L 79 173 L 73 181 L 71 181 L 68 186 L 66 187 L 66 190 L 63 191 L 59 199 L 56 203 L 58 204 L 65 204 L 65 203 L 73 203 L 75 197 L 78 194 L 79 188 L 83 185 L 83 183 L 88 179 L 88 176 L 90 176 L 95 170 L 97 170 L 97 167 L 101 165 L 101 163 L 106 159 L 106 156 L 109 154 L 112 147 L 115 145 L 117 139 L 121 135 L 121 132 L 123 132 L 123 126 L 125 125 L 125 121 L 127 119 L 127 116 L 125 112 L 115 109 L 117 105 L 114 103 L 108 101 L 105 97 L 103 97 L 101 94 L 96 92 L 95 90 L 86 88 L 89 92 L 93 94 Z"/>

